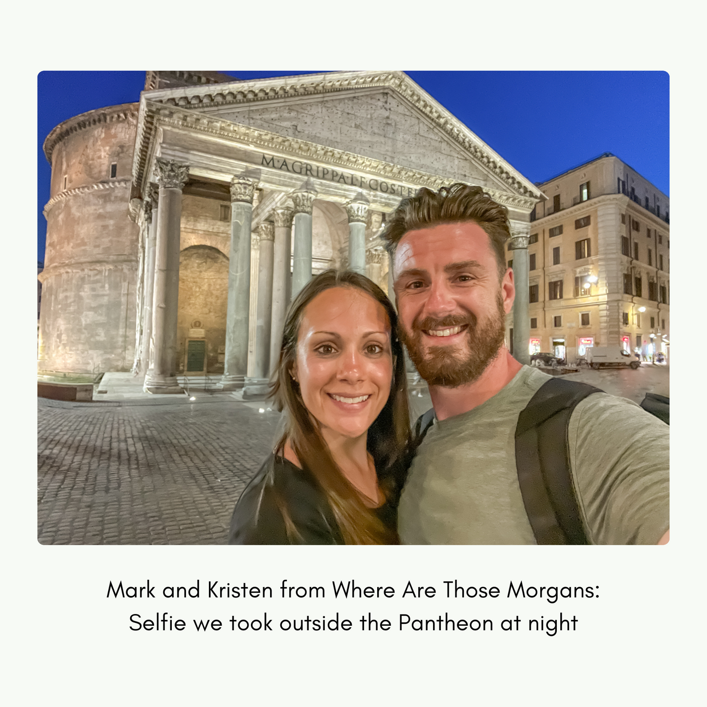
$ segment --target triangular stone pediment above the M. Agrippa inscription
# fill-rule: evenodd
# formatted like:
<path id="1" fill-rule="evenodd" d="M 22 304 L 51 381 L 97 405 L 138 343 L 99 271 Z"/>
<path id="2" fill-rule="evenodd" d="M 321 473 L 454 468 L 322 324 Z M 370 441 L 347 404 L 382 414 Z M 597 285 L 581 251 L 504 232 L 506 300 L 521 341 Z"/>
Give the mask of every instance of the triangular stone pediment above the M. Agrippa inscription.
<path id="1" fill-rule="evenodd" d="M 489 189 L 542 198 L 402 71 L 346 71 L 144 94 L 210 117 Z"/>

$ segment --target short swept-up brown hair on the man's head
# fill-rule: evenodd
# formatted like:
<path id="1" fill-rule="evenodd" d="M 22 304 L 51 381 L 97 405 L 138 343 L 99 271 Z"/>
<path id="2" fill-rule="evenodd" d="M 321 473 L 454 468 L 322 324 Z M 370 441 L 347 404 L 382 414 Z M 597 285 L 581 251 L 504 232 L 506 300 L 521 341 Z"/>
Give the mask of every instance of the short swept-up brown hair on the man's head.
<path id="1" fill-rule="evenodd" d="M 465 221 L 481 226 L 489 236 L 496 254 L 498 276 L 502 278 L 506 272 L 504 245 L 510 238 L 508 209 L 493 201 L 481 187 L 462 182 L 441 187 L 438 192 L 422 187 L 414 197 L 403 199 L 386 218 L 385 230 L 380 237 L 385 241 L 390 257 L 393 257 L 397 244 L 408 231 Z"/>

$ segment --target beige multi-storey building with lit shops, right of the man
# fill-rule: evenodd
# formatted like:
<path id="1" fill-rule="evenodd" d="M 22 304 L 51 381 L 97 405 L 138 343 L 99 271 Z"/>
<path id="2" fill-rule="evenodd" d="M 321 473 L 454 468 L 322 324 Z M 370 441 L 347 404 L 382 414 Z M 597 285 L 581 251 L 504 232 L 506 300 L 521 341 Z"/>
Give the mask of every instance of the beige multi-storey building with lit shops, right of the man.
<path id="1" fill-rule="evenodd" d="M 618 346 L 667 359 L 670 199 L 611 153 L 536 186 L 547 201 L 530 217 L 530 354 L 572 362 Z"/>

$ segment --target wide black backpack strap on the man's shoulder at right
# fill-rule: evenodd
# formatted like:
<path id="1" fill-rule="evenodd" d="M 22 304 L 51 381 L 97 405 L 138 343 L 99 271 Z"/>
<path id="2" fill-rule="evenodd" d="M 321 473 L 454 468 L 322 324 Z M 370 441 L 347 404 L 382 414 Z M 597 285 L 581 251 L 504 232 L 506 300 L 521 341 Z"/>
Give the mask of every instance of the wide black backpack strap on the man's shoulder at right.
<path id="1" fill-rule="evenodd" d="M 515 467 L 525 512 L 539 545 L 585 545 L 570 469 L 567 428 L 577 404 L 603 392 L 587 383 L 551 378 L 518 416 Z"/>

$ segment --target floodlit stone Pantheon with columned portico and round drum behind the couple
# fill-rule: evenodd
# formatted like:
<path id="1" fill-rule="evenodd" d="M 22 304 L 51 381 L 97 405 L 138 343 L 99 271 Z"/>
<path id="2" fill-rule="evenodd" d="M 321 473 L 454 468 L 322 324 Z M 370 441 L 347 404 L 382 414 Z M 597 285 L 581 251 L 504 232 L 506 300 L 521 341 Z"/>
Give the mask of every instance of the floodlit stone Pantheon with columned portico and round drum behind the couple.
<path id="1" fill-rule="evenodd" d="M 399 71 L 150 71 L 139 104 L 62 123 L 45 152 L 40 374 L 134 370 L 152 392 L 184 373 L 262 390 L 293 269 L 296 286 L 354 267 L 387 291 L 378 234 L 419 187 L 481 185 L 519 248 L 544 198 Z"/>

